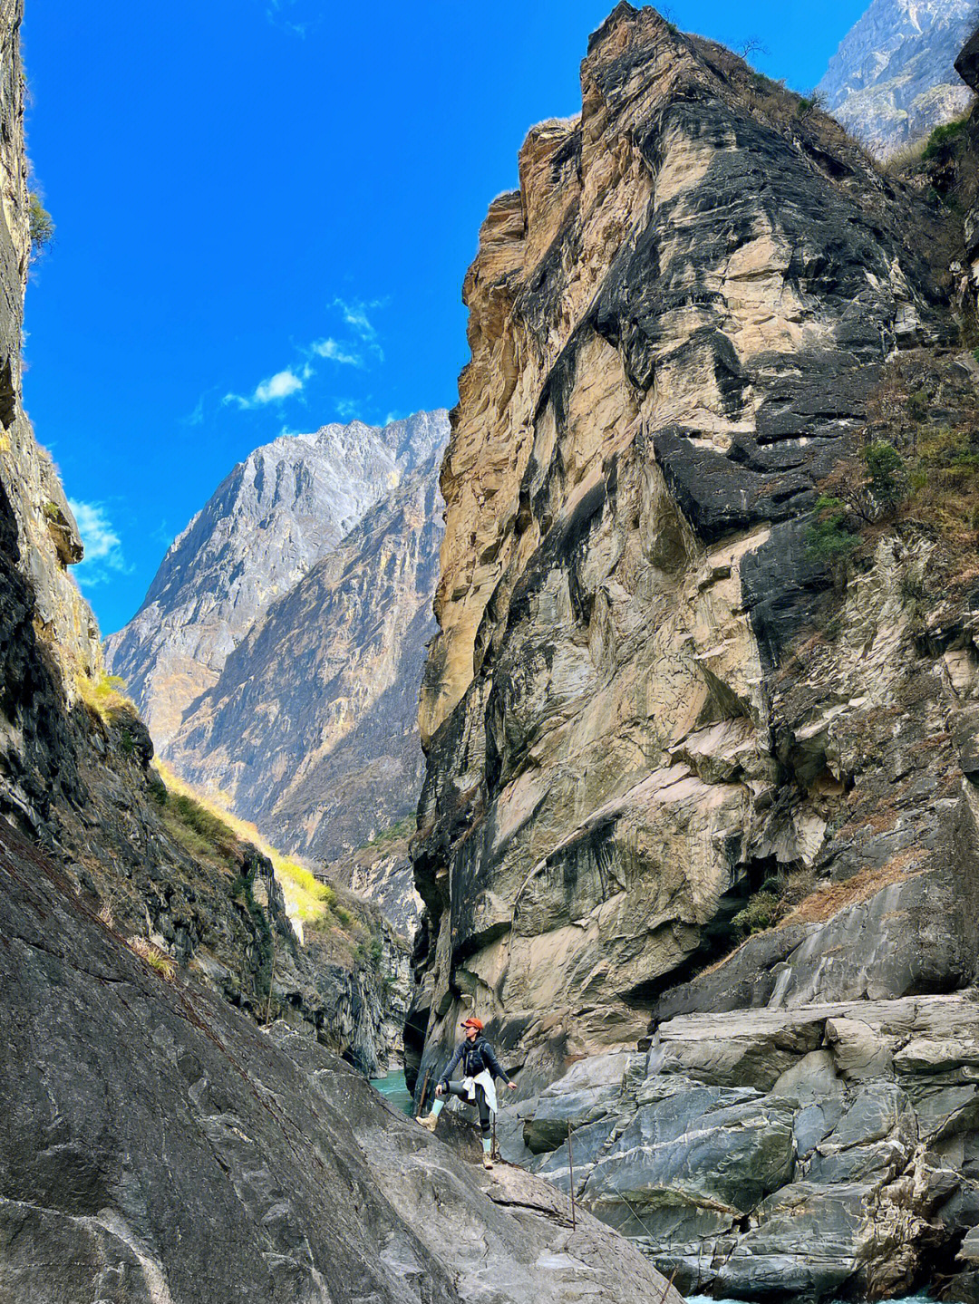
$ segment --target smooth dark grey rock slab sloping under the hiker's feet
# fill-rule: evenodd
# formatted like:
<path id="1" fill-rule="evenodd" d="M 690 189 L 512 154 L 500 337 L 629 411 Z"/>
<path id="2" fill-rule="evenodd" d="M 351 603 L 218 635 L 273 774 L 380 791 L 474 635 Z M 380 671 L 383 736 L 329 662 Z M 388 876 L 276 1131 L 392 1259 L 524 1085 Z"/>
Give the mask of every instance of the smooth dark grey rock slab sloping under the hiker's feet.
<path id="1" fill-rule="evenodd" d="M 1 829 L 0 900 L 4 1304 L 680 1304 L 545 1183 L 162 981 Z"/>

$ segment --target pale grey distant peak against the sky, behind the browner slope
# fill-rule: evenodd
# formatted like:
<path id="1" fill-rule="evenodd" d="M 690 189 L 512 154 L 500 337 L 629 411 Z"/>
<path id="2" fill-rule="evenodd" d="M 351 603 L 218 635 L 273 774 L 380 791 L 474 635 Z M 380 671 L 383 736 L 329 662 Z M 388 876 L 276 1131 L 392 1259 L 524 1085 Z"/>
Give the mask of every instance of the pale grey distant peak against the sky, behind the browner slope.
<path id="1" fill-rule="evenodd" d="M 270 602 L 445 442 L 445 411 L 378 428 L 353 421 L 282 436 L 239 463 L 173 540 L 143 605 L 106 643 L 168 752 L 186 707 Z"/>

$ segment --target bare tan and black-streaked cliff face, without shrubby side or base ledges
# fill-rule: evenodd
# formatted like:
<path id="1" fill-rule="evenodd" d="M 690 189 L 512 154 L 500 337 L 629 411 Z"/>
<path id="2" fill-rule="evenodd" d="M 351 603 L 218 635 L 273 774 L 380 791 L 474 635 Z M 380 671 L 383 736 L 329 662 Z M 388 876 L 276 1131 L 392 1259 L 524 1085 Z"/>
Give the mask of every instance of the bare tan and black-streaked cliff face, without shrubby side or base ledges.
<path id="1" fill-rule="evenodd" d="M 525 1091 L 635 1045 L 768 872 L 842 854 L 871 760 L 833 703 L 860 696 L 859 656 L 777 699 L 828 583 L 806 523 L 884 360 L 956 334 L 924 210 L 830 119 L 626 4 L 581 87 L 579 117 L 528 136 L 465 280 L 421 698 L 420 1084 L 473 1003 Z M 871 715 L 903 691 L 884 595 L 905 565 L 881 554 L 853 599 L 888 662 Z M 919 709 L 927 733 L 945 708 Z"/>

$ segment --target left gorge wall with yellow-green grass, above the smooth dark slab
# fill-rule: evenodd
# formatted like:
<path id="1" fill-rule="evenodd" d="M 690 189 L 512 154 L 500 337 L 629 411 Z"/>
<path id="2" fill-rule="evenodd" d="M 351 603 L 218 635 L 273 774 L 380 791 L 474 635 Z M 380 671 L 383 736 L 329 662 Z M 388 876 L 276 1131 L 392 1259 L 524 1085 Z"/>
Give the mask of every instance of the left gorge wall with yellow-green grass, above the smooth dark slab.
<path id="1" fill-rule="evenodd" d="M 69 575 L 81 541 L 21 402 L 30 241 L 20 14 L 0 5 L 0 815 L 164 971 L 196 973 L 256 1018 L 305 1021 L 373 1071 L 390 1047 L 372 921 L 348 915 L 345 927 L 325 914 L 300 945 L 271 862 L 154 769 L 146 726 L 107 679 Z"/>

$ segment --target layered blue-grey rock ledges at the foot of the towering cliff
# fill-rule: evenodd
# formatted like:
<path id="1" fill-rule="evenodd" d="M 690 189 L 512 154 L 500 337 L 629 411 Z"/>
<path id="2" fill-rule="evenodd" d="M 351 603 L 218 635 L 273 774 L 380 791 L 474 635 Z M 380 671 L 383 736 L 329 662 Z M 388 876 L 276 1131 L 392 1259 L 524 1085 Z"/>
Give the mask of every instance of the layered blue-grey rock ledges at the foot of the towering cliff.
<path id="1" fill-rule="evenodd" d="M 979 1218 L 978 1033 L 975 991 L 674 1018 L 525 1102 L 503 1149 L 567 1191 L 570 1123 L 577 1198 L 684 1292 L 902 1294 Z"/>

